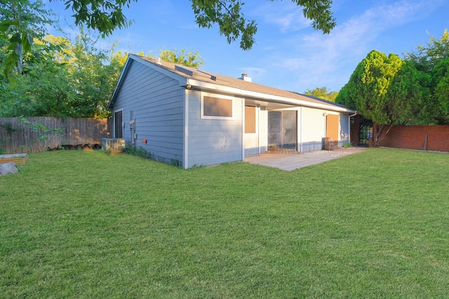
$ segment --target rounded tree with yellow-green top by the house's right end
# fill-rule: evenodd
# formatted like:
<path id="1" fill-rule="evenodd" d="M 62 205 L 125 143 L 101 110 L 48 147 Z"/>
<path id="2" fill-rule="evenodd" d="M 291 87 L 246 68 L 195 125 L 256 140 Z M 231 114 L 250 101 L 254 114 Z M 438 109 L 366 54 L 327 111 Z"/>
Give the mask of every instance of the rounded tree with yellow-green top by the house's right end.
<path id="1" fill-rule="evenodd" d="M 373 121 L 373 144 L 379 146 L 392 125 L 416 118 L 428 96 L 427 76 L 398 55 L 368 53 L 344 85 L 336 102 L 348 104 Z"/>

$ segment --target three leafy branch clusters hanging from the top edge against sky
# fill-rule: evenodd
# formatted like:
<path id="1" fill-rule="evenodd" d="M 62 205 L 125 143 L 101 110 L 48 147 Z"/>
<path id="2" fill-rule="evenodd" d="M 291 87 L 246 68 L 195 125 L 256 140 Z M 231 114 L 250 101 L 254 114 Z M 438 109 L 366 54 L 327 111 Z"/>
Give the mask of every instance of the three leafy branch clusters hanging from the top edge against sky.
<path id="1" fill-rule="evenodd" d="M 52 0 L 50 0 L 52 1 Z M 55 1 L 55 0 L 53 0 Z M 114 29 L 131 24 L 123 15 L 123 7 L 129 7 L 137 0 L 64 0 L 66 9 L 71 8 L 76 25 L 86 25 L 98 29 L 103 36 L 112 34 Z M 210 28 L 217 24 L 220 34 L 226 36 L 228 43 L 241 36 L 240 47 L 248 50 L 253 46 L 253 36 L 257 32 L 255 20 L 247 20 L 242 12 L 241 0 L 190 0 L 196 23 Z M 274 1 L 274 0 L 270 0 Z M 335 18 L 330 11 L 332 0 L 292 0 L 304 7 L 304 17 L 312 20 L 312 27 L 328 34 L 335 27 Z"/>

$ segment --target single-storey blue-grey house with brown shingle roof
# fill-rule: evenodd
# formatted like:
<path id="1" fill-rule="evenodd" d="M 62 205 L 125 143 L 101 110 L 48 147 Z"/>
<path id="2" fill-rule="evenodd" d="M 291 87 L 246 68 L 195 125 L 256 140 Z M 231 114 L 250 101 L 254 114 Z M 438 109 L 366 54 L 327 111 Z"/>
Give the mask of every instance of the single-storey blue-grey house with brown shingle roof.
<path id="1" fill-rule="evenodd" d="M 114 138 L 181 165 L 241 161 L 266 151 L 317 151 L 349 142 L 353 110 L 270 88 L 242 74 L 129 55 L 112 95 Z"/>

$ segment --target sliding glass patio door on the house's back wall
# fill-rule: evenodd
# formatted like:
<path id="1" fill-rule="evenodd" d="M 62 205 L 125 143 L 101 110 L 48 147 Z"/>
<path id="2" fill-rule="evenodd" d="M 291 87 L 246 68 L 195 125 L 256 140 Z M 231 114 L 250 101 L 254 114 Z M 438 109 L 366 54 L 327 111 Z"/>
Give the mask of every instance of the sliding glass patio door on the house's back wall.
<path id="1" fill-rule="evenodd" d="M 297 149 L 297 111 L 268 112 L 268 148 Z"/>

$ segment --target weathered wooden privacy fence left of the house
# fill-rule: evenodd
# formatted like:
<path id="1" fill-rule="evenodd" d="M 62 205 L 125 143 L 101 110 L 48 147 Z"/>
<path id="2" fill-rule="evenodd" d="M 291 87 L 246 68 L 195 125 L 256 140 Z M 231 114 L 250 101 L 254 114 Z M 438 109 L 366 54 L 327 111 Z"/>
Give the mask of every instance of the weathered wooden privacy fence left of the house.
<path id="1" fill-rule="evenodd" d="M 111 128 L 111 119 L 0 118 L 0 148 L 5 153 L 36 153 L 58 146 L 99 148 Z"/>

